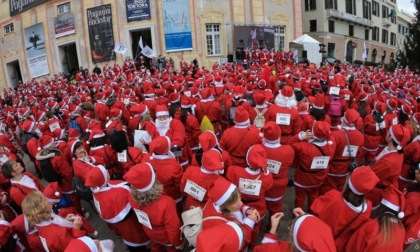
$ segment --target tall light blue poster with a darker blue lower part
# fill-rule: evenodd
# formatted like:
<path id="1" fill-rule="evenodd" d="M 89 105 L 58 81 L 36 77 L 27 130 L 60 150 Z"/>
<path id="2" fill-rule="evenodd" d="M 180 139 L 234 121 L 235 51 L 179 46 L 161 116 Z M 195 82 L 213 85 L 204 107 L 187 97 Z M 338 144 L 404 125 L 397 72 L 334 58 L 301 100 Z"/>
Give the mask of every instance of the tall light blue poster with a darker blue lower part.
<path id="1" fill-rule="evenodd" d="M 192 49 L 189 0 L 162 0 L 167 52 Z"/>

